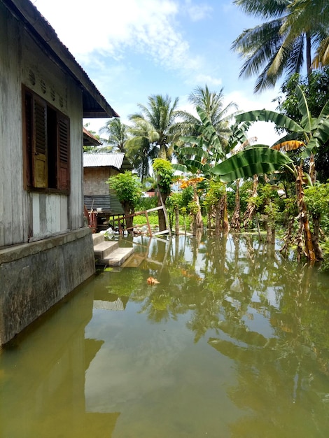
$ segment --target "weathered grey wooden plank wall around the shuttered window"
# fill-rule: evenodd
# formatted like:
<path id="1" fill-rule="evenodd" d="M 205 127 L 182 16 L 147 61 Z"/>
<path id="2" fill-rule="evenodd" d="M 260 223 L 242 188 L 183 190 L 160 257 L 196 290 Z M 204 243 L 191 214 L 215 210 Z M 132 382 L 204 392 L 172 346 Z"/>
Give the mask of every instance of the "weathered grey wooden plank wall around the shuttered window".
<path id="1" fill-rule="evenodd" d="M 83 227 L 82 92 L 0 3 L 0 247 Z M 23 189 L 22 85 L 70 119 L 69 195 Z"/>

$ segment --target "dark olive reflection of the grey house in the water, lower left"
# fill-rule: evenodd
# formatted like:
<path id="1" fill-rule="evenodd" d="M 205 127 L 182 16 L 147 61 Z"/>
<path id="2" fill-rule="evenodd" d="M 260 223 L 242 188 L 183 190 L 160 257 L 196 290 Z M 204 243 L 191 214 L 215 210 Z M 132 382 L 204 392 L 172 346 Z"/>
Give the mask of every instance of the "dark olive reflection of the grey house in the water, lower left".
<path id="1" fill-rule="evenodd" d="M 104 345 L 102 339 L 85 338 L 93 298 L 86 288 L 30 332 L 25 347 L 15 349 L 15 367 L 5 352 L 1 437 L 112 436 L 120 412 L 88 412 L 85 406 L 85 373 Z"/>

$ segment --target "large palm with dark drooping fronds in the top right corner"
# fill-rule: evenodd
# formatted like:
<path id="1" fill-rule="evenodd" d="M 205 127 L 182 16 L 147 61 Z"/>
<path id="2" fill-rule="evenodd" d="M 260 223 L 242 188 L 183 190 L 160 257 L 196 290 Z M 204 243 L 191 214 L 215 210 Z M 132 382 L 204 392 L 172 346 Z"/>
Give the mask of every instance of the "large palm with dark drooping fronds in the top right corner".
<path id="1" fill-rule="evenodd" d="M 311 71 L 311 47 L 328 36 L 328 5 L 325 0 L 235 0 L 244 12 L 268 20 L 245 29 L 232 49 L 246 59 L 240 76 L 255 74 L 255 92 L 275 85 L 287 74 Z M 322 15 L 322 17 L 320 17 Z"/>

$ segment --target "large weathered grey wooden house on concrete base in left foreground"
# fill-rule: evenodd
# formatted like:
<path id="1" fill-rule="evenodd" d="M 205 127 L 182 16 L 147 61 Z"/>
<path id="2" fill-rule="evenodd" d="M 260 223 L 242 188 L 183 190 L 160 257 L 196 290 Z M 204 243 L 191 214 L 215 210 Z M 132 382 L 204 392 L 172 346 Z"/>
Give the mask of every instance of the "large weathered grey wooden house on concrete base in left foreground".
<path id="1" fill-rule="evenodd" d="M 0 345 L 94 273 L 83 118 L 118 114 L 29 0 L 0 0 Z"/>

